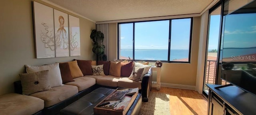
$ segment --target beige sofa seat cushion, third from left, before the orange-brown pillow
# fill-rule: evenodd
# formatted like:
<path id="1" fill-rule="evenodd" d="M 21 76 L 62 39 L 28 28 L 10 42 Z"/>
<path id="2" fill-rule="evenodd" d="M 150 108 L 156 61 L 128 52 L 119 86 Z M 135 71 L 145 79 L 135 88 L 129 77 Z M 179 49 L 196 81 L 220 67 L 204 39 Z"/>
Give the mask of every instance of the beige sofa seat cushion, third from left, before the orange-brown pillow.
<path id="1" fill-rule="evenodd" d="M 65 85 L 74 85 L 78 87 L 78 91 L 83 91 L 96 84 L 96 80 L 92 77 L 78 77 L 74 80 L 75 81 L 65 83 Z"/>

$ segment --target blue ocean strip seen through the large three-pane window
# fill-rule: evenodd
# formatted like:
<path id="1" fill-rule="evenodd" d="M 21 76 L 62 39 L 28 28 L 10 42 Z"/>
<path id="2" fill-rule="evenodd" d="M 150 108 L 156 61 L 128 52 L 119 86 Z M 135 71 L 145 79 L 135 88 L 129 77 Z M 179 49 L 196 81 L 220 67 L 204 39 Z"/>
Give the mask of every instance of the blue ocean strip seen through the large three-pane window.
<path id="1" fill-rule="evenodd" d="M 132 49 L 121 49 L 120 56 L 132 58 Z M 171 50 L 170 61 L 188 58 L 189 50 Z M 168 50 L 135 50 L 136 60 L 168 61 Z"/>

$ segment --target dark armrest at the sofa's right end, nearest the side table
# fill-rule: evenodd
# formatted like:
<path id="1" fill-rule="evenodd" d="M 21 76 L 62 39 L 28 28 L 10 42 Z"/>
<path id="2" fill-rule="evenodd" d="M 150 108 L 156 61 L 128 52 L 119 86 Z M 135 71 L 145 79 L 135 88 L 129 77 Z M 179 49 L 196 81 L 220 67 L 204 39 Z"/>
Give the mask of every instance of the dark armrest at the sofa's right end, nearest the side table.
<path id="1" fill-rule="evenodd" d="M 142 100 L 144 102 L 148 101 L 148 95 L 151 91 L 151 85 L 152 85 L 152 68 L 148 70 L 148 73 L 142 77 L 141 80 L 141 94 L 142 94 Z"/>

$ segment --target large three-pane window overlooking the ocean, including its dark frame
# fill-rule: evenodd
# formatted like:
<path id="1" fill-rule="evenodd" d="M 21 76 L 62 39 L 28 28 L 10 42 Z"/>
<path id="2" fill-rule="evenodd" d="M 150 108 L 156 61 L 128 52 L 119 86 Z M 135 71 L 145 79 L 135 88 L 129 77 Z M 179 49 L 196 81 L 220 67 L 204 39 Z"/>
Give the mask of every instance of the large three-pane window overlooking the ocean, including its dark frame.
<path id="1" fill-rule="evenodd" d="M 118 23 L 118 59 L 190 63 L 192 18 Z"/>

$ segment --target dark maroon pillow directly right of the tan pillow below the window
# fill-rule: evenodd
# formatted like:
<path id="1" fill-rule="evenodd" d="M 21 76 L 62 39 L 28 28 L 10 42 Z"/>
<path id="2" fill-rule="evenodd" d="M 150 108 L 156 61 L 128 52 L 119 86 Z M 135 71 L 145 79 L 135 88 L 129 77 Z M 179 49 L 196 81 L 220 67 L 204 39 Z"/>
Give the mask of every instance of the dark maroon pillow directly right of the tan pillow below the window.
<path id="1" fill-rule="evenodd" d="M 129 77 L 132 73 L 132 61 L 131 62 L 121 62 L 121 76 Z"/>

